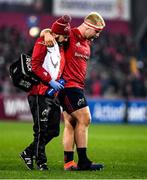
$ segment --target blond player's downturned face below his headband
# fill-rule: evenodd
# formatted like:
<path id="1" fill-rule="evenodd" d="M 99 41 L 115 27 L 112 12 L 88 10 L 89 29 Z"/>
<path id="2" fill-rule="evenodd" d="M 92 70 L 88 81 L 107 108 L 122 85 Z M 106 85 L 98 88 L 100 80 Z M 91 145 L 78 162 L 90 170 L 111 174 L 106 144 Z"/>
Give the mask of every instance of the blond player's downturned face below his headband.
<path id="1" fill-rule="evenodd" d="M 85 38 L 93 41 L 95 38 L 98 38 L 101 33 L 101 30 L 95 30 L 88 28 L 85 31 Z"/>

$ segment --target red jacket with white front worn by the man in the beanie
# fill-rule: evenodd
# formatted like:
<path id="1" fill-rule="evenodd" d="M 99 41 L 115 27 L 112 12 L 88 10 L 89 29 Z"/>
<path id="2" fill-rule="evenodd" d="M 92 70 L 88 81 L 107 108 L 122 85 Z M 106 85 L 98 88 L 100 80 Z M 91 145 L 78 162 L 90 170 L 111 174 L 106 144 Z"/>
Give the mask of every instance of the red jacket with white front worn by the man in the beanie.
<path id="1" fill-rule="evenodd" d="M 34 85 L 30 95 L 44 95 L 51 79 L 58 80 L 61 77 L 65 65 L 63 48 L 56 44 L 54 47 L 44 45 L 43 37 L 37 39 L 32 54 L 32 71 L 42 82 Z"/>

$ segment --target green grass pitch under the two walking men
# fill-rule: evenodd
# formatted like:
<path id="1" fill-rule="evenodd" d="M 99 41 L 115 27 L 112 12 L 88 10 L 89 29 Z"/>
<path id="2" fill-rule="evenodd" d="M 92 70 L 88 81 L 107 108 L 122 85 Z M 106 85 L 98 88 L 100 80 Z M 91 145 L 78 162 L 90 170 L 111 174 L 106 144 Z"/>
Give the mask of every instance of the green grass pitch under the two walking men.
<path id="1" fill-rule="evenodd" d="M 91 125 L 89 157 L 104 163 L 103 171 L 63 171 L 61 135 L 47 145 L 50 171 L 29 171 L 18 157 L 32 141 L 32 124 L 0 122 L 0 178 L 3 179 L 145 179 L 147 178 L 146 125 Z M 77 158 L 77 157 L 76 157 Z"/>

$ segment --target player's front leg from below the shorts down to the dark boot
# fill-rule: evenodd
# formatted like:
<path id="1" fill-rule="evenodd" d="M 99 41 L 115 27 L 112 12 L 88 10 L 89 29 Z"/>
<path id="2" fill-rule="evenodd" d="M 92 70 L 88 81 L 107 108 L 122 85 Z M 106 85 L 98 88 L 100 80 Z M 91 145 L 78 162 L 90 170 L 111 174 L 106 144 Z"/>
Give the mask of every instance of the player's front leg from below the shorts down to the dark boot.
<path id="1" fill-rule="evenodd" d="M 75 127 L 75 142 L 78 153 L 79 170 L 101 170 L 102 164 L 92 163 L 87 156 L 88 126 L 91 121 L 89 107 L 78 109 L 71 113 L 77 119 Z"/>

